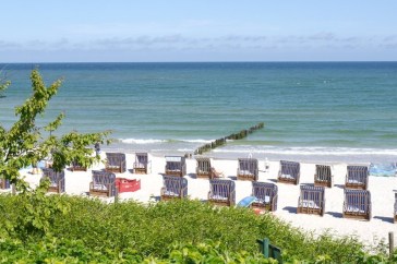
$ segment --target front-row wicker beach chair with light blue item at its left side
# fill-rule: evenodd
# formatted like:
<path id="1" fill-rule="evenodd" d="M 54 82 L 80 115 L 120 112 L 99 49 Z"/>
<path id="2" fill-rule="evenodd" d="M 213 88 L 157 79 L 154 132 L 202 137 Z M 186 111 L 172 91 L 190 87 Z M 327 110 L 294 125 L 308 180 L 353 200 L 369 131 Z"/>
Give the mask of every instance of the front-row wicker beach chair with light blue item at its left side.
<path id="1" fill-rule="evenodd" d="M 276 184 L 253 181 L 252 196 L 255 197 L 255 201 L 251 204 L 251 207 L 267 212 L 277 211 L 278 188 Z"/>

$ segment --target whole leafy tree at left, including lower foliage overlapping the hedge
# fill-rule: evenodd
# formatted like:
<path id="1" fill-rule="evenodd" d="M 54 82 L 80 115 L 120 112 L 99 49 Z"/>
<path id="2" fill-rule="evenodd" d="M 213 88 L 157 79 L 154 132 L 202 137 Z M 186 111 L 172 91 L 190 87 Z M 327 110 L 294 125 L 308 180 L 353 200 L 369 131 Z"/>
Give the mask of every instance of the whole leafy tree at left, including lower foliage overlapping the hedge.
<path id="1" fill-rule="evenodd" d="M 0 124 L 0 177 L 15 184 L 15 189 L 20 191 L 19 204 L 25 213 L 19 214 L 14 220 L 7 220 L 5 229 L 8 233 L 16 233 L 23 241 L 34 237 L 51 237 L 53 216 L 68 214 L 70 206 L 60 199 L 52 202 L 47 199 L 45 194 L 49 181 L 40 181 L 39 187 L 32 190 L 21 179 L 20 170 L 29 165 L 36 166 L 48 156 L 51 156 L 52 168 L 56 171 L 61 171 L 72 161 L 88 167 L 100 159 L 88 146 L 97 142 L 104 143 L 110 133 L 105 131 L 80 134 L 72 131 L 58 137 L 51 132 L 61 124 L 63 113 L 45 127 L 37 127 L 36 119 L 44 115 L 48 101 L 57 94 L 62 80 L 47 87 L 37 69 L 32 71 L 31 80 L 32 96 L 15 108 L 19 120 L 9 130 Z"/>

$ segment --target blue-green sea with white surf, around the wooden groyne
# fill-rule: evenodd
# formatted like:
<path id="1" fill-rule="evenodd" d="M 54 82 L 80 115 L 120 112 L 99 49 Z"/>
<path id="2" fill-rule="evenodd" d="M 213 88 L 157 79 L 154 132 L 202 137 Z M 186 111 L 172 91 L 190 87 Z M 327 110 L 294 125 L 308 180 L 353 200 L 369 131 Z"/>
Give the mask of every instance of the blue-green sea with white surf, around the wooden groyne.
<path id="1" fill-rule="evenodd" d="M 103 151 L 194 157 L 264 122 L 203 155 L 397 161 L 397 62 L 0 63 L 12 82 L 0 96 L 2 127 L 32 94 L 35 68 L 46 85 L 63 80 L 37 125 L 63 112 L 59 135 L 110 130 Z"/>

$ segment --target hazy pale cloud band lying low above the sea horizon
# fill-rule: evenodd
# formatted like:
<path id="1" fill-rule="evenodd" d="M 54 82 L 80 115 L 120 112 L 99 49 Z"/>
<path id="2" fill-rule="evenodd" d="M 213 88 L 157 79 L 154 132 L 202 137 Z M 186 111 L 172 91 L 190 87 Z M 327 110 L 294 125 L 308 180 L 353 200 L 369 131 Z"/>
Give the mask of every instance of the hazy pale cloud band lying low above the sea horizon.
<path id="1" fill-rule="evenodd" d="M 370 60 L 375 58 L 375 55 L 390 53 L 390 51 L 397 55 L 397 36 L 339 36 L 330 32 L 287 36 L 226 34 L 215 37 L 164 34 L 100 37 L 81 41 L 73 41 L 65 37 L 55 41 L 40 39 L 25 43 L 0 41 L 0 48 L 2 58 L 11 58 L 8 60 L 19 56 L 36 58 L 39 55 L 46 58 L 50 56 L 61 58 L 57 61 L 62 61 L 62 58 L 67 61 L 93 61 L 93 58 L 95 61 L 135 61 L 136 58 L 146 58 L 147 61 L 172 61 L 172 56 L 177 61 L 204 60 L 204 58 L 225 61 L 244 60 L 243 58 L 246 60 L 252 58 L 254 60 L 277 60 L 277 58 L 310 60 L 310 58 L 318 57 L 323 60 L 337 58 Z M 369 55 L 373 56 L 370 58 Z M 397 59 L 393 56 L 378 58 L 378 60 Z"/>

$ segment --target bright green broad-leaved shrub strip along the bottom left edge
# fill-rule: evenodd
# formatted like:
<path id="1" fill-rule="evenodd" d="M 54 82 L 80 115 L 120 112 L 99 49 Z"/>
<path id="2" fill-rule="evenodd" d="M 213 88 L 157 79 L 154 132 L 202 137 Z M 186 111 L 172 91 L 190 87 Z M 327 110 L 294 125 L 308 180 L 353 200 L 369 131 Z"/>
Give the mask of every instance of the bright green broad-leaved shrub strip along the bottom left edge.
<path id="1" fill-rule="evenodd" d="M 136 251 L 93 251 L 81 240 L 47 239 L 38 243 L 0 240 L 0 263 L 277 263 L 246 251 L 231 252 L 220 243 L 172 244 L 163 259 L 141 256 Z"/>

